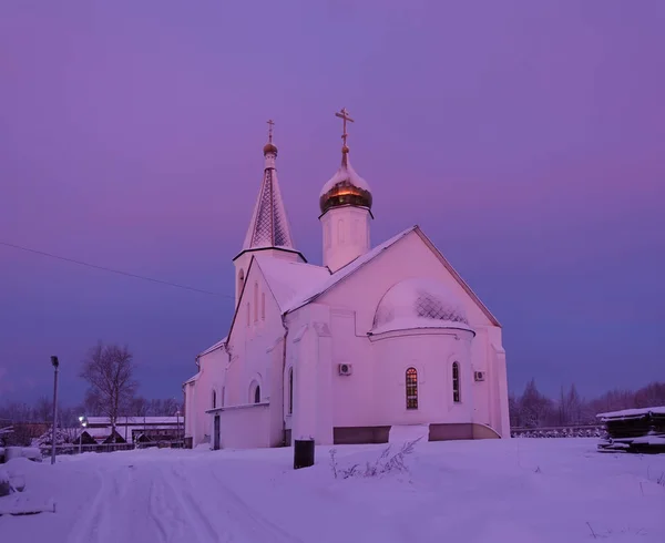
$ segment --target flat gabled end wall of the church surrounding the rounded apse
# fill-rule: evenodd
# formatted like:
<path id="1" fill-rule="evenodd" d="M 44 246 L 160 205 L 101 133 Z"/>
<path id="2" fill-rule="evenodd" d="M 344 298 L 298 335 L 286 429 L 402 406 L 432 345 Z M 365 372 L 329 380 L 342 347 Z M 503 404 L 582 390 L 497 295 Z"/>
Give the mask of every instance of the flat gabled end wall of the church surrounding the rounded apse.
<path id="1" fill-rule="evenodd" d="M 368 403 L 371 403 L 368 397 L 372 398 L 372 401 L 374 397 L 376 397 L 376 383 L 379 382 L 380 378 L 377 376 L 381 371 L 379 360 L 397 356 L 400 357 L 403 363 L 409 358 L 409 354 L 407 351 L 403 354 L 390 351 L 387 351 L 385 355 L 378 354 L 364 336 L 371 330 L 376 308 L 386 291 L 400 280 L 416 277 L 442 281 L 464 304 L 470 325 L 478 332 L 477 338 L 471 340 L 469 355 L 470 368 L 464 371 L 464 381 L 473 387 L 464 396 L 474 404 L 474 410 L 467 413 L 466 420 L 479 423 L 488 421 L 495 428 L 498 419 L 494 418 L 492 420 L 490 410 L 495 410 L 498 403 L 497 400 L 489 398 L 489 391 L 492 388 L 497 389 L 495 387 L 491 387 L 489 379 L 495 378 L 497 372 L 491 371 L 490 368 L 491 358 L 489 358 L 490 339 L 488 330 L 499 330 L 498 341 L 501 345 L 500 329 L 491 325 L 487 315 L 458 284 L 438 256 L 430 250 L 417 233 L 411 233 L 397 242 L 391 248 L 378 255 L 371 263 L 358 269 L 336 288 L 330 289 L 317 300 L 320 305 L 329 305 L 334 315 L 334 367 L 331 368 L 331 372 L 334 376 L 332 404 L 335 427 L 365 426 L 366 420 L 369 419 L 376 422 L 378 414 L 380 414 L 376 410 L 372 412 L 372 408 L 368 406 Z M 344 311 L 355 315 L 355 331 L 352 336 L 350 335 L 349 327 L 342 324 L 342 318 L 337 317 L 344 314 Z M 340 329 L 341 332 L 337 334 L 336 329 Z M 419 341 L 416 345 L 419 345 Z M 421 345 L 426 345 L 426 342 Z M 337 376 L 336 363 L 340 358 L 347 358 L 354 363 L 354 376 L 348 378 Z M 368 378 L 364 372 L 364 368 L 368 363 L 374 365 L 375 368 L 372 378 Z M 484 382 L 473 381 L 472 371 L 478 368 L 485 368 L 488 371 L 488 380 Z M 433 371 L 437 372 L 438 370 Z M 356 379 L 354 380 L 354 378 Z M 403 377 L 400 382 L 403 382 Z M 395 386 L 400 387 L 401 385 Z M 367 387 L 375 387 L 375 392 L 368 395 Z M 355 390 L 362 390 L 364 392 L 355 393 Z M 348 401 L 348 398 L 354 398 L 354 400 Z"/>

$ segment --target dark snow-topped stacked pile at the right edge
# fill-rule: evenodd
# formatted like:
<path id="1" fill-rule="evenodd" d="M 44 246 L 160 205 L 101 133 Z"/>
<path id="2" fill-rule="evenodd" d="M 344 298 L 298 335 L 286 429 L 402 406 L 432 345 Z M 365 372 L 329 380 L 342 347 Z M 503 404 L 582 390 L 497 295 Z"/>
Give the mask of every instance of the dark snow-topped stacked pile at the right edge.
<path id="1" fill-rule="evenodd" d="M 596 414 L 607 430 L 602 451 L 665 452 L 665 406 Z"/>

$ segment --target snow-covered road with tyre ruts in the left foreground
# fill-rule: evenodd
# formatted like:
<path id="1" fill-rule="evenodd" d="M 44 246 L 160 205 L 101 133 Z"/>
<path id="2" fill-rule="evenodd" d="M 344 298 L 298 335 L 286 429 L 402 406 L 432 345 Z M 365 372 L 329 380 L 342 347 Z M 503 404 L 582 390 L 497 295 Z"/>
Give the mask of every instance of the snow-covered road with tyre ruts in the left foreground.
<path id="1" fill-rule="evenodd" d="M 111 464 L 96 473 L 99 490 L 66 541 L 298 541 L 247 505 L 209 468 L 140 455 Z"/>

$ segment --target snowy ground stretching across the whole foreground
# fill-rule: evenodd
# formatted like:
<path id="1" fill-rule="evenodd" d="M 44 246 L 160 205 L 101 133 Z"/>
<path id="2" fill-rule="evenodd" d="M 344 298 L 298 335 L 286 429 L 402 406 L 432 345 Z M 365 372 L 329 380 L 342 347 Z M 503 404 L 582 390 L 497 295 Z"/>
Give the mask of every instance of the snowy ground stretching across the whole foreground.
<path id="1" fill-rule="evenodd" d="M 293 449 L 12 460 L 23 500 L 53 499 L 55 513 L 0 516 L 0 542 L 665 542 L 665 454 L 596 442 L 420 443 L 408 473 L 350 479 L 334 478 L 328 447 L 298 471 Z M 339 447 L 338 467 L 382 450 Z"/>

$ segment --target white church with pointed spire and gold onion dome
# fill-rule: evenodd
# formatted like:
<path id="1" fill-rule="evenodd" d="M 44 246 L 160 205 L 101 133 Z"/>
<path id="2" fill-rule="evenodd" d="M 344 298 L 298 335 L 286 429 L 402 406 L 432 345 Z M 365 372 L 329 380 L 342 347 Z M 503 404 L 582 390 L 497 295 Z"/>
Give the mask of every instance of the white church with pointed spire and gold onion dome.
<path id="1" fill-rule="evenodd" d="M 227 337 L 183 385 L 193 447 L 509 438 L 501 325 L 427 235 L 371 246 L 372 191 L 341 162 L 323 185 L 323 265 L 294 244 L 269 123 L 263 180 L 235 266 Z M 313 206 L 314 212 L 314 206 Z"/>

